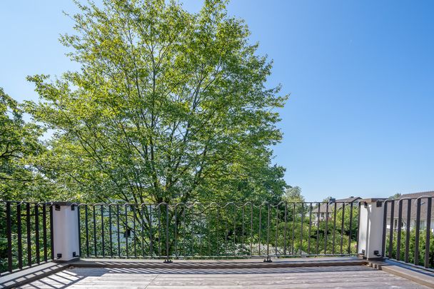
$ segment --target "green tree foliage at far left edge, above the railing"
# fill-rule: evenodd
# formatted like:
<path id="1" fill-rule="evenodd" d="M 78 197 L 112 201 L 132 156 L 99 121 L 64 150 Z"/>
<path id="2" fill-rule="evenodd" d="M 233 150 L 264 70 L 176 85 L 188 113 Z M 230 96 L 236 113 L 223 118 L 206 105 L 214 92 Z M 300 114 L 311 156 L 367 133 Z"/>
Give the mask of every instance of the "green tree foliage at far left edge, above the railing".
<path id="1" fill-rule="evenodd" d="M 43 133 L 24 121 L 19 103 L 0 88 L 0 199 L 44 200 L 49 195 L 50 183 L 33 162 L 46 151 L 39 140 Z"/>

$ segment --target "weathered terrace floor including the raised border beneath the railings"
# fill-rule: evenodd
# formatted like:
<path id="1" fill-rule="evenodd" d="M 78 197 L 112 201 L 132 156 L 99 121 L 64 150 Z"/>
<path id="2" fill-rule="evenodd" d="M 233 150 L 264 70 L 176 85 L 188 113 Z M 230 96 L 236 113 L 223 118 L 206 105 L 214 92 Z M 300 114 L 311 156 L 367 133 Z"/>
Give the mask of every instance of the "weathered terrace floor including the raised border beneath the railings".
<path id="1" fill-rule="evenodd" d="M 29 283 L 20 287 L 24 282 Z M 82 259 L 46 263 L 13 273 L 0 278 L 0 288 L 4 287 L 434 288 L 434 273 L 353 257 L 274 259 L 273 263 L 263 263 L 261 259 L 175 260 L 168 264 L 162 260 Z"/>

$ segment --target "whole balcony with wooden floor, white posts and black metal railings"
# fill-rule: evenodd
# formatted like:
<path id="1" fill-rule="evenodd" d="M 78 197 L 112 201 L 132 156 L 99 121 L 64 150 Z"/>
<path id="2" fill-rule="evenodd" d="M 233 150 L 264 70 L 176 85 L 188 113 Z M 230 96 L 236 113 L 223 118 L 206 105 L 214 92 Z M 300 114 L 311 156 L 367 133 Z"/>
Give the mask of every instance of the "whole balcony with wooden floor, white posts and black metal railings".
<path id="1" fill-rule="evenodd" d="M 403 202 L 3 201 L 0 288 L 434 288 L 430 230 L 390 230 Z"/>

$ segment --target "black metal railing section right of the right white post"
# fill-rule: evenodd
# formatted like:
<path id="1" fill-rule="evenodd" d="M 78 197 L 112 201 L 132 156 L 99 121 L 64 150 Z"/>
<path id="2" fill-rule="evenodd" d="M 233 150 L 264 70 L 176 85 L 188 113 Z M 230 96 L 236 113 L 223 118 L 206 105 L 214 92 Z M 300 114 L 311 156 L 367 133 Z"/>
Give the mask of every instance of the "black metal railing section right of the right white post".
<path id="1" fill-rule="evenodd" d="M 433 198 L 383 201 L 383 257 L 434 268 Z"/>

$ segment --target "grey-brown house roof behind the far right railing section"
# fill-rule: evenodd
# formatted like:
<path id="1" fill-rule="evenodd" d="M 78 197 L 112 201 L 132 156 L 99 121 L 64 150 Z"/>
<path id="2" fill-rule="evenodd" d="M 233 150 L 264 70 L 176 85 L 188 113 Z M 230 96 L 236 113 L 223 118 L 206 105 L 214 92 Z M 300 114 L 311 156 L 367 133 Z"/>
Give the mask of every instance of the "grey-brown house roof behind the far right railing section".
<path id="1" fill-rule="evenodd" d="M 410 199 L 410 218 L 415 219 L 416 218 L 416 209 L 417 209 L 417 199 L 420 197 L 428 196 L 431 198 L 434 198 L 434 191 L 427 191 L 427 192 L 420 192 L 420 193 L 405 193 L 401 195 L 398 199 L 394 201 L 394 210 L 393 210 L 393 218 L 398 218 L 399 213 L 399 200 L 403 199 L 401 201 L 402 203 L 402 218 L 405 220 L 408 215 L 408 199 Z M 392 203 L 388 202 L 388 211 L 387 211 L 387 217 L 390 218 L 390 207 Z M 428 202 L 427 198 L 420 198 L 420 220 L 426 220 L 427 212 L 428 211 Z M 431 203 L 431 218 L 434 218 L 434 201 Z"/>

